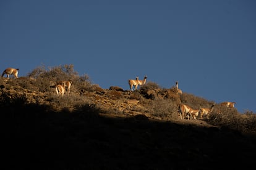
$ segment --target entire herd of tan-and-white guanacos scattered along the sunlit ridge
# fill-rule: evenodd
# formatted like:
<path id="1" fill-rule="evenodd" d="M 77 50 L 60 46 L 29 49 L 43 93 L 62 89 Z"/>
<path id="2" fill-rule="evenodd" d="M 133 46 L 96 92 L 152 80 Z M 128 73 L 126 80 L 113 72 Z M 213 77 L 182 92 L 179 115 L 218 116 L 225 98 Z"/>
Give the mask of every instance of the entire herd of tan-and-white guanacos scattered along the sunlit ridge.
<path id="1" fill-rule="evenodd" d="M 4 75 L 7 75 L 7 78 L 9 78 L 11 75 L 14 75 L 15 78 L 18 78 L 18 71 L 19 68 L 6 68 L 2 72 L 2 77 Z M 136 77 L 135 79 L 129 79 L 129 87 L 131 91 L 137 90 L 138 86 L 143 86 L 147 81 L 147 76 L 144 76 L 143 80 L 140 80 L 139 77 Z M 54 86 L 56 89 L 56 93 L 59 96 L 63 96 L 64 92 L 67 90 L 68 95 L 70 94 L 70 86 L 72 85 L 72 81 L 58 81 Z M 176 89 L 178 94 L 182 94 L 181 89 L 178 87 L 178 83 L 176 81 Z M 220 105 L 226 106 L 228 108 L 234 108 L 234 104 L 236 102 L 222 102 Z M 189 105 L 186 105 L 184 103 L 179 104 L 179 116 L 181 119 L 185 119 L 185 115 L 187 116 L 187 119 L 202 119 L 204 115 L 209 115 L 211 111 L 213 111 L 213 107 L 215 104 L 211 105 L 210 108 L 199 108 L 199 109 L 193 109 Z"/>

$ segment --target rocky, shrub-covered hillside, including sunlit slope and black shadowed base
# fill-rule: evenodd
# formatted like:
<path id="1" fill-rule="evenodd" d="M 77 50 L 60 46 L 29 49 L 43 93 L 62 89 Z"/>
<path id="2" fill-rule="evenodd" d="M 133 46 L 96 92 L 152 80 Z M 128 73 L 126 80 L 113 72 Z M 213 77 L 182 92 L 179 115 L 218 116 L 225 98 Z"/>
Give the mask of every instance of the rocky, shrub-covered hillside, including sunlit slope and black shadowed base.
<path id="1" fill-rule="evenodd" d="M 52 82 L 72 81 L 57 97 Z M 127 84 L 128 86 L 128 84 Z M 73 65 L 0 78 L 7 169 L 219 169 L 254 166 L 256 116 L 216 103 L 202 120 L 181 120 L 178 103 L 210 108 L 193 94 L 148 81 L 137 91 L 102 89 Z"/>

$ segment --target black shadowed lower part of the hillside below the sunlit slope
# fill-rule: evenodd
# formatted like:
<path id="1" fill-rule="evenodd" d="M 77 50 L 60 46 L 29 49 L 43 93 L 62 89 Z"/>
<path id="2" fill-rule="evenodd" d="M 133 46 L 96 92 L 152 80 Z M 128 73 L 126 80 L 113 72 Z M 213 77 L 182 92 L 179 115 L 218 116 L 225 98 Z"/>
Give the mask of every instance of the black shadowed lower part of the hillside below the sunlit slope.
<path id="1" fill-rule="evenodd" d="M 38 105 L 10 107 L 1 113 L 6 169 L 254 167 L 255 137 L 231 129 L 138 115 L 56 113 Z"/>

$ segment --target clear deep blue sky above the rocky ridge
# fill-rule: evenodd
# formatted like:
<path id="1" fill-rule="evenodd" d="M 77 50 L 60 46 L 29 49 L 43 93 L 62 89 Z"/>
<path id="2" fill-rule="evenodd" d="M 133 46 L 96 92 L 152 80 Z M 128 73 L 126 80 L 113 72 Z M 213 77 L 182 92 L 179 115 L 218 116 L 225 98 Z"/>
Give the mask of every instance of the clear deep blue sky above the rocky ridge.
<path id="1" fill-rule="evenodd" d="M 0 1 L 0 71 L 73 64 L 107 89 L 143 79 L 256 112 L 256 1 Z M 2 72 L 1 71 L 1 72 Z"/>

